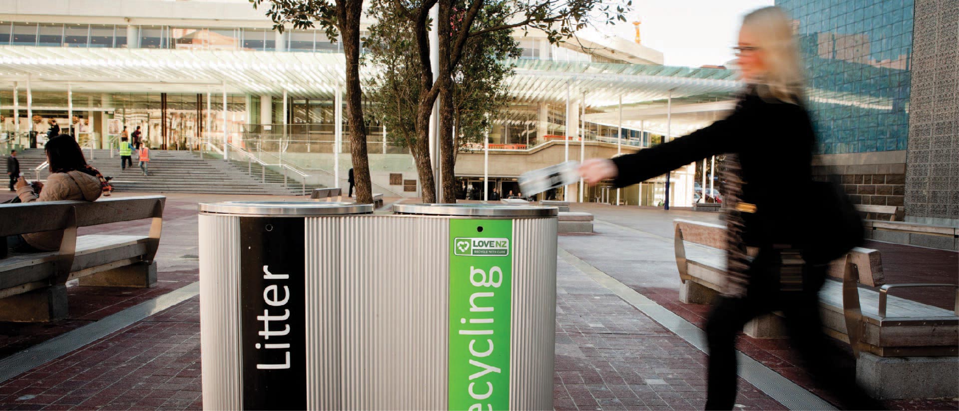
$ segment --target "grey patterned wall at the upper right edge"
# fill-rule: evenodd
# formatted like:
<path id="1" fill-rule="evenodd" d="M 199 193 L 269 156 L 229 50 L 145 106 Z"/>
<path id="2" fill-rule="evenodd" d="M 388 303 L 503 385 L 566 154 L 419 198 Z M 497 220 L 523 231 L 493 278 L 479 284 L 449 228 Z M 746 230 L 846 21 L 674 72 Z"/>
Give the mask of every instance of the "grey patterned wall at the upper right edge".
<path id="1" fill-rule="evenodd" d="M 959 1 L 916 0 L 906 220 L 959 226 Z"/>

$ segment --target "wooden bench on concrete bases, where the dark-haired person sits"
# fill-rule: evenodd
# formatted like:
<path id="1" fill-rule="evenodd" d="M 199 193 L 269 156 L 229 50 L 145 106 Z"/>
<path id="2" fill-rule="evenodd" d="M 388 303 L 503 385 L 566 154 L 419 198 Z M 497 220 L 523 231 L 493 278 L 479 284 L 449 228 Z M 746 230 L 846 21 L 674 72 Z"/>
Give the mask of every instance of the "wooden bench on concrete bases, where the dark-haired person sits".
<path id="1" fill-rule="evenodd" d="M 0 321 L 52 321 L 67 314 L 66 282 L 151 287 L 163 226 L 161 195 L 0 205 L 0 238 L 63 231 L 58 251 L 0 260 Z M 78 227 L 152 218 L 146 236 L 77 236 Z M 6 244 L 4 244 L 6 246 Z"/>

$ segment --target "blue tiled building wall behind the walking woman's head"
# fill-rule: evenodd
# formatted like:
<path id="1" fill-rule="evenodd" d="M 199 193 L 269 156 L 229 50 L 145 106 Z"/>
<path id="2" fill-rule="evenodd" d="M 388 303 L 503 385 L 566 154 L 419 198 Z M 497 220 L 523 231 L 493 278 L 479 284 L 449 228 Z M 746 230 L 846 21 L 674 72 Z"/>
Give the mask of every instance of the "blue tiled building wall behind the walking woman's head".
<path id="1" fill-rule="evenodd" d="M 794 23 L 822 154 L 900 150 L 913 0 L 777 0 Z"/>

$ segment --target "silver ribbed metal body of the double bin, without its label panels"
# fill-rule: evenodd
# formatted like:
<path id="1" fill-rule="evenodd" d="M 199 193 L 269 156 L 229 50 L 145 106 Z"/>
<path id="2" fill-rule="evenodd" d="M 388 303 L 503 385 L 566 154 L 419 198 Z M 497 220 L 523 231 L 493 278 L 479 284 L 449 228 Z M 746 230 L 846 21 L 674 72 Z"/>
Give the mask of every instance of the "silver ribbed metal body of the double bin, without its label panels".
<path id="1" fill-rule="evenodd" d="M 241 265 L 249 258 L 244 253 L 251 252 L 241 245 L 241 224 L 247 217 L 212 213 L 199 217 L 203 406 L 208 410 L 251 409 L 244 400 L 250 395 L 244 391 L 244 370 L 255 371 L 255 367 L 245 362 L 244 355 L 260 354 L 261 345 L 251 347 L 253 341 L 244 326 L 282 330 L 251 322 L 248 313 L 244 321 L 241 312 L 249 309 L 244 308 L 249 302 L 242 297 L 250 296 L 241 289 L 246 278 L 241 271 L 248 269 Z M 286 382 L 302 389 L 301 407 L 448 409 L 449 344 L 456 333 L 450 322 L 451 220 L 495 219 L 509 220 L 512 230 L 512 253 L 506 262 L 512 264 L 511 309 L 506 317 L 510 322 L 508 407 L 552 409 L 554 213 L 545 217 L 360 214 L 290 218 L 302 220 L 303 227 L 305 301 L 298 309 L 303 311 L 300 324 L 305 328 L 305 360 L 300 362 L 305 373 L 303 378 Z M 253 296 L 258 299 L 258 295 Z M 280 299 L 275 290 L 273 294 L 264 290 L 263 295 L 264 299 Z M 296 294 L 291 291 L 290 295 Z M 275 312 L 271 318 L 278 318 L 282 311 Z M 269 345 L 273 340 L 260 342 Z M 293 362 L 295 368 L 295 359 Z M 250 387 L 249 381 L 246 387 Z"/>

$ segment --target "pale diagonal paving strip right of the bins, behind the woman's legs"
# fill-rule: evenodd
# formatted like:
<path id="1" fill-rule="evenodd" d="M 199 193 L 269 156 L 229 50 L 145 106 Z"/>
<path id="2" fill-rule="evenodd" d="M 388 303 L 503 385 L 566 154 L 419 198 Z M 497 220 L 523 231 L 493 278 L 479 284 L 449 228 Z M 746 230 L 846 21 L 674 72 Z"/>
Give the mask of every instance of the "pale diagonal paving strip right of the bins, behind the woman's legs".
<path id="1" fill-rule="evenodd" d="M 706 332 L 692 325 L 689 321 L 679 315 L 674 314 L 667 308 L 663 308 L 656 302 L 646 298 L 628 285 L 620 283 L 617 279 L 598 270 L 590 263 L 586 263 L 570 252 L 559 249 L 559 258 L 570 263 L 576 269 L 582 271 L 599 285 L 603 285 L 621 299 L 639 309 L 652 318 L 657 323 L 666 327 L 667 330 L 675 332 L 676 335 L 685 339 L 693 347 L 696 347 L 703 353 L 708 353 L 706 344 Z M 773 400 L 779 401 L 790 410 L 834 410 L 835 406 L 829 401 L 823 400 L 800 387 L 795 382 L 783 377 L 781 374 L 762 365 L 759 361 L 749 355 L 736 352 L 738 362 L 739 377 L 742 377 L 750 384 L 753 384 L 760 391 L 765 393 Z"/>

